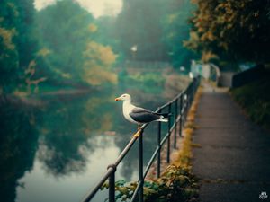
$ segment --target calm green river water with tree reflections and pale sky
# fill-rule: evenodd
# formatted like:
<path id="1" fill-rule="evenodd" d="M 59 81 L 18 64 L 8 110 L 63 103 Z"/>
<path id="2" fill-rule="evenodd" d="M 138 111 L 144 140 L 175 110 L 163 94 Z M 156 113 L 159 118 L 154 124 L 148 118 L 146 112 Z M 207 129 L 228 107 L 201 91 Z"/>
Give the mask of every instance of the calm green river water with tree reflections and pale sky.
<path id="1" fill-rule="evenodd" d="M 1 201 L 80 201 L 137 129 L 123 118 L 121 102 L 114 98 L 130 92 L 135 104 L 156 110 L 168 98 L 164 89 L 155 91 L 111 88 L 39 96 L 41 102 L 34 107 L 1 106 Z M 155 127 L 151 124 L 144 136 L 145 165 L 156 148 Z M 121 162 L 116 180 L 138 179 L 137 153 L 135 144 Z M 94 201 L 104 201 L 106 191 Z"/>

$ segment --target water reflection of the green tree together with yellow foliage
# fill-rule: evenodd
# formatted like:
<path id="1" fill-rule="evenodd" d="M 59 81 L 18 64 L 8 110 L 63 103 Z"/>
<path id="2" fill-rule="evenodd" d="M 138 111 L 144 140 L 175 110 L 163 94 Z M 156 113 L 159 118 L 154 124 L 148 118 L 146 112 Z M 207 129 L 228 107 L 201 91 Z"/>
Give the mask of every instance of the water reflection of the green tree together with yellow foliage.
<path id="1" fill-rule="evenodd" d="M 85 171 L 85 150 L 93 152 L 96 147 L 91 137 L 112 128 L 109 100 L 95 94 L 48 104 L 42 115 L 38 152 L 44 170 L 56 177 Z"/>

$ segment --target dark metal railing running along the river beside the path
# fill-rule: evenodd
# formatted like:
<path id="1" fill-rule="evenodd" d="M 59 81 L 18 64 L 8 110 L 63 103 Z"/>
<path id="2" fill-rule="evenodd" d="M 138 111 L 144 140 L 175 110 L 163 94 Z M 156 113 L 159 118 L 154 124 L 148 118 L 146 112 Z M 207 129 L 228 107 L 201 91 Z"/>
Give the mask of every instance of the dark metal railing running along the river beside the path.
<path id="1" fill-rule="evenodd" d="M 94 195 L 97 193 L 99 189 L 102 188 L 104 182 L 106 180 L 109 180 L 109 202 L 115 202 L 115 172 L 117 170 L 117 167 L 119 163 L 122 161 L 122 159 L 126 156 L 126 154 L 129 153 L 130 148 L 136 140 L 138 139 L 139 147 L 138 147 L 138 159 L 139 159 L 139 181 L 137 188 L 134 190 L 132 198 L 130 199 L 130 202 L 135 201 L 135 199 L 139 199 L 139 202 L 143 201 L 143 184 L 144 179 L 146 178 L 148 171 L 155 162 L 155 159 L 157 158 L 157 178 L 160 177 L 160 164 L 161 164 L 161 149 L 165 144 L 166 145 L 166 162 L 170 162 L 170 154 L 171 154 L 171 137 L 174 136 L 174 148 L 176 148 L 176 141 L 177 141 L 177 132 L 178 136 L 182 136 L 182 128 L 184 126 L 184 122 L 186 120 L 187 112 L 190 109 L 190 106 L 193 102 L 194 94 L 199 86 L 200 78 L 194 78 L 193 81 L 188 85 L 188 87 L 181 93 L 179 93 L 175 98 L 171 101 L 168 101 L 163 106 L 159 107 L 156 112 L 167 112 L 170 113 L 172 116 L 169 116 L 168 122 L 167 122 L 167 131 L 166 136 L 164 136 L 161 139 L 161 123 L 158 122 L 157 127 L 157 148 L 155 149 L 154 153 L 152 154 L 148 165 L 143 171 L 143 132 L 146 127 L 148 127 L 148 124 L 144 124 L 141 127 L 141 135 L 139 137 L 132 137 L 128 145 L 125 146 L 125 148 L 122 150 L 121 154 L 117 158 L 117 160 L 113 163 L 108 165 L 107 172 L 103 175 L 103 178 L 99 180 L 99 182 L 94 186 L 94 189 L 92 189 L 82 200 L 82 202 L 88 202 L 92 198 L 94 198 Z M 177 130 L 178 127 L 178 130 Z"/>

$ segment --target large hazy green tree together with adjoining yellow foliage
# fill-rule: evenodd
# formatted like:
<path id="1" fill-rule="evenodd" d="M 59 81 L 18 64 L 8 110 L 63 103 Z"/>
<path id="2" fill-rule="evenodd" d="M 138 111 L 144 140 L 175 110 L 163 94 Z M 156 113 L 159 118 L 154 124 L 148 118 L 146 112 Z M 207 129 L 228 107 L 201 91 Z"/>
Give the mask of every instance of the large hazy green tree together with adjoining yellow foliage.
<path id="1" fill-rule="evenodd" d="M 117 83 L 111 69 L 116 55 L 109 46 L 95 42 L 99 28 L 92 14 L 79 4 L 58 1 L 38 13 L 37 24 L 40 47 L 46 53 L 42 65 L 50 69 L 47 74 L 54 80 L 92 86 Z"/>

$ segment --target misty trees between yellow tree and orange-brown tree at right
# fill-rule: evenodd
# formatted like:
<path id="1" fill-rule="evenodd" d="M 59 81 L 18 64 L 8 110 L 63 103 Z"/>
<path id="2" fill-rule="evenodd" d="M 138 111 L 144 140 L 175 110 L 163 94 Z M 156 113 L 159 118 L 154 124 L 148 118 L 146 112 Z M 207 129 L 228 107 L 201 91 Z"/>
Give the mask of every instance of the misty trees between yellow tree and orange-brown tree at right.
<path id="1" fill-rule="evenodd" d="M 192 4 L 186 0 L 123 1 L 116 19 L 119 48 L 130 60 L 171 61 L 175 67 L 189 66 L 194 57 L 183 46 L 188 38 Z M 131 47 L 138 50 L 132 53 Z"/>

